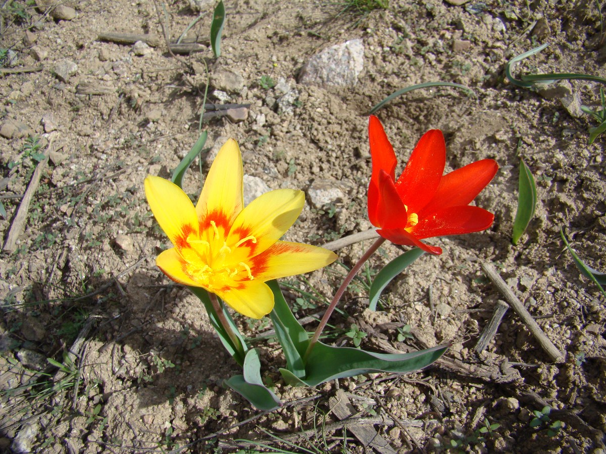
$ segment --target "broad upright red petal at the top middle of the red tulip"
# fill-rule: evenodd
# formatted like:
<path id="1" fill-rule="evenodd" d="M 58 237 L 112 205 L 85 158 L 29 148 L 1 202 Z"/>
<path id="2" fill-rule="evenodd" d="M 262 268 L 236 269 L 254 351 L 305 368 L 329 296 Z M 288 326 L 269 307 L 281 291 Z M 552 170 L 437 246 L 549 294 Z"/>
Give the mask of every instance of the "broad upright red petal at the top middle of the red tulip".
<path id="1" fill-rule="evenodd" d="M 415 146 L 396 182 L 408 210 L 418 213 L 430 202 L 446 165 L 446 145 L 440 130 L 427 131 Z"/>

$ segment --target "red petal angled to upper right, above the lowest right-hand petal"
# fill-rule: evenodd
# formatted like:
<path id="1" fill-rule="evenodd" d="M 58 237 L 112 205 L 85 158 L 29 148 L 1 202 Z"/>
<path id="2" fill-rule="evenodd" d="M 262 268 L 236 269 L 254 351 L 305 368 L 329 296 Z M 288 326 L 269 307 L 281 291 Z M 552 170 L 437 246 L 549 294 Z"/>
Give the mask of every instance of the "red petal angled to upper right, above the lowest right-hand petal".
<path id="1" fill-rule="evenodd" d="M 419 218 L 424 217 L 425 213 L 442 211 L 450 206 L 469 205 L 490 183 L 498 169 L 496 161 L 482 159 L 446 174 L 440 180 L 431 202 L 422 212 L 418 212 Z"/>

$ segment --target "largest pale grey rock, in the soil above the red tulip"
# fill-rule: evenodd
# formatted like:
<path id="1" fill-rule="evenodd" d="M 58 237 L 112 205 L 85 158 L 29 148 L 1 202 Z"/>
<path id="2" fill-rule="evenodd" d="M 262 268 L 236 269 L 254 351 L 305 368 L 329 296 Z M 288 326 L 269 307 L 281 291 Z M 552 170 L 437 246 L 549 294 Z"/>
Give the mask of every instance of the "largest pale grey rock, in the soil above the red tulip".
<path id="1" fill-rule="evenodd" d="M 305 85 L 348 86 L 358 82 L 364 69 L 361 39 L 338 44 L 315 54 L 301 68 L 299 83 Z"/>

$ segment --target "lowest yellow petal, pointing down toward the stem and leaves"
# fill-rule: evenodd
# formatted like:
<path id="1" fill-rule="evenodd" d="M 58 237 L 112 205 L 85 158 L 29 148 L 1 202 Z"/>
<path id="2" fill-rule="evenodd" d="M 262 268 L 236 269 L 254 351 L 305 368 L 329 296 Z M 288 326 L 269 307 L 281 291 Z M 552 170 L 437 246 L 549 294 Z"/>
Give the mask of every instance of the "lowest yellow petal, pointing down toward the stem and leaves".
<path id="1" fill-rule="evenodd" d="M 236 312 L 246 317 L 261 318 L 273 309 L 273 292 L 260 280 L 242 281 L 239 288 L 232 288 L 217 295 Z"/>

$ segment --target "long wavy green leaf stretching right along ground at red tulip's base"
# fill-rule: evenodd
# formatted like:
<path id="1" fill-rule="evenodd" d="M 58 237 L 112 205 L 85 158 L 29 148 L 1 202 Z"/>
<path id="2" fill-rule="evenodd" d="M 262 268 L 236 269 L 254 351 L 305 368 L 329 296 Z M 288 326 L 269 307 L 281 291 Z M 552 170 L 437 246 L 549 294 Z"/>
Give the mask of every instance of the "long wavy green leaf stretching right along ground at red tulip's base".
<path id="1" fill-rule="evenodd" d="M 354 377 L 361 373 L 414 372 L 438 360 L 447 348 L 448 345 L 440 345 L 412 353 L 382 354 L 318 342 L 307 358 L 305 380 L 287 369 L 280 369 L 280 373 L 286 383 L 292 386 L 316 386 L 335 378 Z"/>

